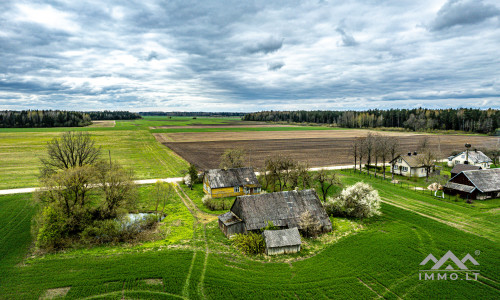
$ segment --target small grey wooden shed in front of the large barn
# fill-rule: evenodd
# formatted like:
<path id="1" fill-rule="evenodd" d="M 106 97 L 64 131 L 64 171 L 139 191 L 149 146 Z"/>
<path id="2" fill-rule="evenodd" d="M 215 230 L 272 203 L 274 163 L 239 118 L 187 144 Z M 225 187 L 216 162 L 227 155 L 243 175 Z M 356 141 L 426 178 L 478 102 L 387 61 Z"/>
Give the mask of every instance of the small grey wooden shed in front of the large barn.
<path id="1" fill-rule="evenodd" d="M 300 251 L 300 233 L 297 227 L 281 230 L 265 230 L 266 254 L 277 255 Z"/>

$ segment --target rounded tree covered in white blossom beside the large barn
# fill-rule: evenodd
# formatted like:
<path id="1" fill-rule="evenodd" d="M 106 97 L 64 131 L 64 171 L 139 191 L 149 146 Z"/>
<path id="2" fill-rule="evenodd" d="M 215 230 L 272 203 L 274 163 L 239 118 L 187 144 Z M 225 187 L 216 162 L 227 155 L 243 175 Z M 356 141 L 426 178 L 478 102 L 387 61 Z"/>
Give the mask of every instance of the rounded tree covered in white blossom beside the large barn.
<path id="1" fill-rule="evenodd" d="M 342 190 L 337 198 L 329 199 L 326 209 L 330 214 L 368 218 L 380 215 L 380 196 L 371 185 L 358 182 Z"/>

